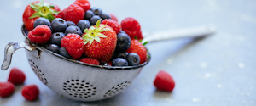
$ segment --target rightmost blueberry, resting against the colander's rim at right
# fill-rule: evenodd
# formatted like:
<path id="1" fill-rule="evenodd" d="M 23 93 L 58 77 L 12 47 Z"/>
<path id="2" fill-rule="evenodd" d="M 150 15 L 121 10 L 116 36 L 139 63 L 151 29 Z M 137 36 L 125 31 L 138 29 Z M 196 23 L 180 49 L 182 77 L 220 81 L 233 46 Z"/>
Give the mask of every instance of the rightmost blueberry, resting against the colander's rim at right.
<path id="1" fill-rule="evenodd" d="M 140 63 L 140 57 L 137 53 L 129 53 L 125 58 L 130 66 L 134 66 Z"/>

